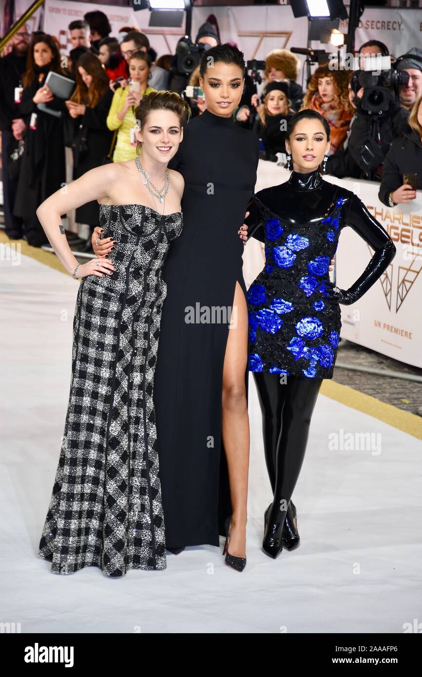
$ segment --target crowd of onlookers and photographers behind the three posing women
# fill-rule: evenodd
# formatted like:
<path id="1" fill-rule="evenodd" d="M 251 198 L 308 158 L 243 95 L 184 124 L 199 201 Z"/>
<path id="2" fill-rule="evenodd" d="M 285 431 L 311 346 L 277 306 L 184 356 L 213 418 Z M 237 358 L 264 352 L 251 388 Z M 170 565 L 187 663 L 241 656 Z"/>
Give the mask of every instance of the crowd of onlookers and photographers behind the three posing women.
<path id="1" fill-rule="evenodd" d="M 157 53 L 135 27 L 110 37 L 104 12 L 87 12 L 68 26 L 71 49 L 63 60 L 58 40 L 44 32 L 30 35 L 22 26 L 0 58 L 0 127 L 2 133 L 5 232 L 33 246 L 46 244 L 36 215 L 39 204 L 66 183 L 66 152 L 71 149 L 72 177 L 104 164 L 136 156 L 135 108 L 151 91 L 182 93 L 198 87 L 199 72 L 178 70 L 177 53 Z M 199 49 L 220 42 L 216 26 L 205 22 L 195 37 Z M 331 148 L 326 173 L 379 181 L 379 199 L 388 206 L 415 199 L 422 188 L 422 49 L 413 47 L 394 58 L 386 45 L 369 41 L 359 49 L 360 69 L 350 72 L 320 64 L 305 87 L 299 84 L 301 62 L 288 49 L 268 53 L 260 94 L 245 74 L 236 124 L 261 139 L 261 157 L 285 160 L 289 117 L 303 108 L 318 111 L 329 123 Z M 365 64 L 374 56 L 390 56 L 392 68 L 404 73 L 400 84 L 387 88 L 381 114 L 366 105 Z M 338 64 L 339 65 L 339 64 Z M 75 87 L 62 99 L 45 83 L 54 72 Z M 381 83 L 382 84 L 382 83 Z M 189 97 L 192 116 L 205 110 L 201 91 Z M 405 181 L 405 178 L 407 181 Z M 77 209 L 85 228 L 86 250 L 98 225 L 98 204 Z"/>

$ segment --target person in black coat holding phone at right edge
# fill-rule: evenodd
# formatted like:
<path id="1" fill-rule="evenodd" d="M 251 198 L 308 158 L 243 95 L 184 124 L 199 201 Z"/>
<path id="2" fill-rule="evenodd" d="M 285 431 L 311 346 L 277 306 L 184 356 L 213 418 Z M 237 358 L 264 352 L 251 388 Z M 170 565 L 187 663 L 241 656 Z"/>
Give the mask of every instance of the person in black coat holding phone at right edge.
<path id="1" fill-rule="evenodd" d="M 406 131 L 384 160 L 379 199 L 387 206 L 408 204 L 422 190 L 422 95 L 410 111 Z"/>

